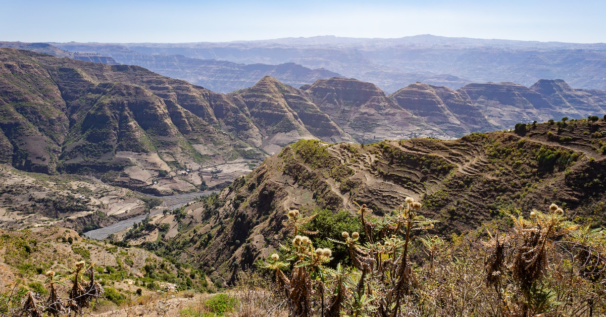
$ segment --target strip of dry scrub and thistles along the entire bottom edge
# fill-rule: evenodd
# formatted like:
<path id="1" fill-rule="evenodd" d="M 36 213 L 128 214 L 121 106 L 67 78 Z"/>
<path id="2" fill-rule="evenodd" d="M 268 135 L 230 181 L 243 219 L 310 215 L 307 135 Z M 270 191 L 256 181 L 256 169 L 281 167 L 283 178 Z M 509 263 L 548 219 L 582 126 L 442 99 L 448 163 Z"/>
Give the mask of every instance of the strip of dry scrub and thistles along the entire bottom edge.
<path id="1" fill-rule="evenodd" d="M 336 267 L 329 248 L 314 247 L 302 229 L 315 215 L 289 210 L 287 226 L 294 238 L 281 245 L 259 269 L 273 271 L 275 282 L 259 273 L 241 273 L 227 294 L 187 301 L 173 299 L 164 285 L 157 302 L 144 305 L 129 296 L 118 315 L 207 316 L 602 316 L 606 313 L 606 234 L 602 228 L 568 221 L 567 213 L 551 204 L 522 215 L 503 211 L 511 227 L 486 227 L 487 238 L 426 235 L 433 219 L 419 215 L 413 198 L 382 217 L 359 210 L 361 232 L 342 232 L 331 241 L 348 250 Z M 411 238 L 419 243 L 412 247 Z M 20 237 L 23 238 L 23 237 Z M 13 239 L 11 247 L 30 244 Z M 321 244 L 319 242 L 318 244 Z M 41 247 L 45 247 L 41 245 Z M 45 272 L 44 281 L 15 284 L 4 293 L 9 315 L 83 315 L 106 296 L 96 280 L 95 264 L 78 261 L 64 267 L 66 275 Z M 41 272 L 39 272 L 41 273 Z M 84 278 L 87 276 L 87 278 Z M 36 279 L 32 279 L 36 280 Z M 69 285 L 65 296 L 56 287 Z M 42 285 L 44 283 L 45 285 Z M 107 290 L 112 290 L 108 288 Z M 113 292 L 116 292 L 113 290 Z M 21 293 L 21 302 L 15 302 Z M 41 293 L 47 293 L 43 299 Z M 8 295 L 8 296 L 7 296 Z M 162 298 L 162 295 L 164 296 Z M 158 295 L 156 295 L 158 297 Z M 193 293 L 185 293 L 193 298 Z M 169 300 L 170 298 L 170 300 Z M 149 297 L 147 298 L 147 300 Z M 156 298 L 158 299 L 158 298 Z M 93 301 L 93 305 L 91 305 Z M 132 307 L 138 302 L 138 306 Z M 95 305 L 96 304 L 96 305 Z M 187 307 L 185 307 L 187 306 Z M 98 309 L 98 310 L 103 310 Z M 116 312 L 104 313 L 116 315 Z"/>

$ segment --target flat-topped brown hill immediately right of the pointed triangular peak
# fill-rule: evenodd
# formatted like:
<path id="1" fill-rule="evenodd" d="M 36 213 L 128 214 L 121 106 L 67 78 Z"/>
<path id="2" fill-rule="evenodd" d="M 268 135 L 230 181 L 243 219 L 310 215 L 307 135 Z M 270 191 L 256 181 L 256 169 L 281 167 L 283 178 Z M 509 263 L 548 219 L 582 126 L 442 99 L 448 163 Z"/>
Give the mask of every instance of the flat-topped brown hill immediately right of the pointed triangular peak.
<path id="1" fill-rule="evenodd" d="M 357 79 L 320 79 L 301 87 L 313 96 L 316 105 L 358 142 L 399 138 L 427 128 L 412 120 L 410 112 L 369 82 Z"/>

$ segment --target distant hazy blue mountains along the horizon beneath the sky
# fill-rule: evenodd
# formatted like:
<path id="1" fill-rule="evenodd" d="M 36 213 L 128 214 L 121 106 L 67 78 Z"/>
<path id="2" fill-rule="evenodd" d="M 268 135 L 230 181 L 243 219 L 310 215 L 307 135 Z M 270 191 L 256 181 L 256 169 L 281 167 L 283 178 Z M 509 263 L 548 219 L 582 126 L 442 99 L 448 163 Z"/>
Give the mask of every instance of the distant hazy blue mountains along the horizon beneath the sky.
<path id="1" fill-rule="evenodd" d="M 132 58 L 121 60 L 122 55 L 135 53 L 141 55 L 139 59 L 143 55 L 148 59 L 153 58 L 150 56 L 165 59 L 162 56 L 182 55 L 238 64 L 278 65 L 294 62 L 311 69 L 324 68 L 345 78 L 372 82 L 387 93 L 417 81 L 456 89 L 471 82 L 516 82 L 530 86 L 539 79 L 564 79 L 577 88 L 606 89 L 606 44 L 432 35 L 395 39 L 316 36 L 236 42 L 52 44 L 70 52 L 101 53 L 122 64 L 135 61 Z M 184 64 L 138 65 L 162 75 L 191 81 L 191 78 L 179 77 L 176 73 L 165 73 L 165 69 L 168 71 L 175 65 L 185 67 Z M 229 74 L 230 70 L 225 72 Z M 282 78 L 278 79 L 283 81 Z"/>

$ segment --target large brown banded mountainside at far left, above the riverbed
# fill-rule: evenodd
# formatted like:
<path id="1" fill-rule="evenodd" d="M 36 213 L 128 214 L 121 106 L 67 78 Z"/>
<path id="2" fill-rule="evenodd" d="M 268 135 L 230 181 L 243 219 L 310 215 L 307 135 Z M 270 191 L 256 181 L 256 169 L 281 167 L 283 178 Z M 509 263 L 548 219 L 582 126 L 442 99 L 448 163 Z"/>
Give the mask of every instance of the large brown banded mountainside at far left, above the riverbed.
<path id="1" fill-rule="evenodd" d="M 170 193 L 199 190 L 202 164 L 265 156 L 245 141 L 258 134 L 254 125 L 222 130 L 214 108 L 235 107 L 225 95 L 136 66 L 11 49 L 0 58 L 0 141 L 4 162 L 19 169 L 92 172 Z"/>

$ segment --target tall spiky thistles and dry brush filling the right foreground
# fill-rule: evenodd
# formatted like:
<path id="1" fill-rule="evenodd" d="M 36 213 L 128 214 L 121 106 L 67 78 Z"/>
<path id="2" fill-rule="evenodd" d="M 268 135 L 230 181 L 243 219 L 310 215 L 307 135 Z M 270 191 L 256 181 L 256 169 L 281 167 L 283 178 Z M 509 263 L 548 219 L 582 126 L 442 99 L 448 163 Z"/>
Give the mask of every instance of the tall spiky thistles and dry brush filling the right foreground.
<path id="1" fill-rule="evenodd" d="M 349 261 L 328 267 L 331 249 L 295 235 L 260 267 L 274 272 L 293 316 L 598 316 L 606 313 L 606 233 L 547 212 L 503 211 L 510 223 L 488 237 L 422 236 L 435 221 L 412 198 L 384 218 L 359 210 L 364 233 L 330 239 Z M 292 211 L 288 212 L 290 219 Z M 295 230 L 296 234 L 296 230 Z M 361 237 L 365 236 L 366 243 Z M 412 244 L 416 236 L 420 242 Z M 414 258 L 410 254 L 414 253 Z M 570 256 L 572 255 L 572 256 Z M 284 259 L 282 259 L 284 258 Z M 290 271 L 290 276 L 287 272 Z M 468 293 L 473 292 L 473 293 Z M 472 295 L 473 294 L 473 295 Z M 313 295 L 313 296 L 312 296 Z M 564 301 L 564 302 L 563 302 Z"/>

